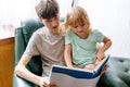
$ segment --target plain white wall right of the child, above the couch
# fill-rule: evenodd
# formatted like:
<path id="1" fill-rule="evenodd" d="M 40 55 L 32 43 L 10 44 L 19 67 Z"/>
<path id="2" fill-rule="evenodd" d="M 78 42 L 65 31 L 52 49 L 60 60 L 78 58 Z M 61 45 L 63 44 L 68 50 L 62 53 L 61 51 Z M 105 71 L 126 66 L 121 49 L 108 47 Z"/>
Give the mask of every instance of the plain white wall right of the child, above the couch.
<path id="1" fill-rule="evenodd" d="M 93 28 L 108 36 L 113 46 L 106 53 L 130 58 L 130 0 L 77 0 Z"/>

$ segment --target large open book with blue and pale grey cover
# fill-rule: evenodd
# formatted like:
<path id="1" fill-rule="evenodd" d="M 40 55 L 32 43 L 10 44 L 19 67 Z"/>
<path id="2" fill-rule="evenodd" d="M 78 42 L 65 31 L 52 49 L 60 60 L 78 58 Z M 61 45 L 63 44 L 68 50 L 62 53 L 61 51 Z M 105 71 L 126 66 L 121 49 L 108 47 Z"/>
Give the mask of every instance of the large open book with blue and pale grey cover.
<path id="1" fill-rule="evenodd" d="M 52 65 L 50 82 L 58 87 L 95 87 L 103 66 L 107 63 L 107 54 L 93 70 Z"/>

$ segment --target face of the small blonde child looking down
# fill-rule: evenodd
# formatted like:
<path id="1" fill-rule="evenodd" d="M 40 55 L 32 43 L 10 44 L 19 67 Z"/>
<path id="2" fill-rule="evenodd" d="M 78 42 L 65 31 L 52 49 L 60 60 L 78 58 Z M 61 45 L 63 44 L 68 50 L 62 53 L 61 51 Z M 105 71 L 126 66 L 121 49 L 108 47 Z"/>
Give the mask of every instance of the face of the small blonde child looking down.
<path id="1" fill-rule="evenodd" d="M 70 26 L 70 28 L 73 29 L 73 32 L 76 35 L 78 35 L 79 37 L 82 36 L 82 34 L 87 34 L 88 27 L 89 27 L 89 25 L 87 25 L 86 23 Z"/>

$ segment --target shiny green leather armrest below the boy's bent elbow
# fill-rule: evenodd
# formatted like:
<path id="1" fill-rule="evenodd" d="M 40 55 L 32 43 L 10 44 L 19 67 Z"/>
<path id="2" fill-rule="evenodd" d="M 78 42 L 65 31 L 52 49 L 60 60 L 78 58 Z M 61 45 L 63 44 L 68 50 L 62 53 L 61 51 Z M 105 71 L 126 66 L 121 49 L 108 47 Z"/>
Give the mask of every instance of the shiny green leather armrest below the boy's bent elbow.
<path id="1" fill-rule="evenodd" d="M 13 87 L 38 87 L 38 86 L 16 76 L 16 74 L 13 74 Z"/>

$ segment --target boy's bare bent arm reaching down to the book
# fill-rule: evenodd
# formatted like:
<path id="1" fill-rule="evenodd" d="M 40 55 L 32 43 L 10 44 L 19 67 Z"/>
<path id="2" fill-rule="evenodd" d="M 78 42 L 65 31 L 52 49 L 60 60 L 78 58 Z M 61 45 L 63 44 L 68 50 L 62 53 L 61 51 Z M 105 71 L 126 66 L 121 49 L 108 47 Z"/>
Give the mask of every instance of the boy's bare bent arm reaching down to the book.
<path id="1" fill-rule="evenodd" d="M 23 54 L 22 59 L 20 60 L 18 64 L 15 67 L 16 75 L 18 75 L 20 77 L 23 77 L 31 83 L 35 83 L 39 86 L 43 85 L 43 83 L 49 82 L 49 80 L 47 80 L 46 77 L 40 77 L 38 75 L 35 75 L 26 69 L 26 65 L 28 64 L 30 59 L 31 59 L 30 55 Z M 49 84 L 49 83 L 47 83 L 47 84 Z"/>

